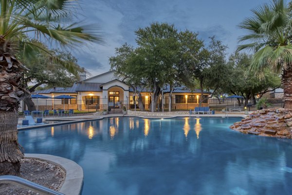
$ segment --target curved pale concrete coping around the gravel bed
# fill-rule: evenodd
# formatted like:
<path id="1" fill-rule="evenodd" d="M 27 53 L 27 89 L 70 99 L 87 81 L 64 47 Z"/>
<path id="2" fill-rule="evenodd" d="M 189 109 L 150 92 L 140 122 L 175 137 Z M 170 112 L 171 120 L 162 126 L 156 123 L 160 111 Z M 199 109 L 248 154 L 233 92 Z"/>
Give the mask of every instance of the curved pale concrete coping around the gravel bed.
<path id="1" fill-rule="evenodd" d="M 47 154 L 24 154 L 24 158 L 44 160 L 60 166 L 66 172 L 66 178 L 58 192 L 64 195 L 80 195 L 84 177 L 83 169 L 73 160 Z"/>

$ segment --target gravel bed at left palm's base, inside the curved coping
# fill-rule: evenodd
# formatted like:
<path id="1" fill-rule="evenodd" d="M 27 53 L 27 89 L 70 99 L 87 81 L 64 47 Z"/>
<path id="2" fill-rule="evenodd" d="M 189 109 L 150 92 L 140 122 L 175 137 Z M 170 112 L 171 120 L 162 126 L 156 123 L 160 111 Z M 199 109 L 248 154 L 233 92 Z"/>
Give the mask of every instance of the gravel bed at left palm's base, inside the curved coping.
<path id="1" fill-rule="evenodd" d="M 66 173 L 59 166 L 46 161 L 23 159 L 20 177 L 58 191 L 63 185 Z M 12 184 L 0 184 L 0 195 L 38 195 L 38 193 Z"/>

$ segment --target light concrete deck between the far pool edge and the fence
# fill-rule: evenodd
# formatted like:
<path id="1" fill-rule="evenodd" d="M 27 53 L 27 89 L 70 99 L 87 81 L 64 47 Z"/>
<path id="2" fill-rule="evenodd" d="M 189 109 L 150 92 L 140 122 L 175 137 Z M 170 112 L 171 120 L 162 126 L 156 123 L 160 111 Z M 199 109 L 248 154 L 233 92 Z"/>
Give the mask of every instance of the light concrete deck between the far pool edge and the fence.
<path id="1" fill-rule="evenodd" d="M 250 112 L 251 113 L 251 112 Z M 34 126 L 24 126 L 19 127 L 18 130 L 25 130 L 25 129 L 32 129 L 32 128 L 39 128 L 39 127 L 47 127 L 47 126 L 54 126 L 54 125 L 62 125 L 62 124 L 71 124 L 71 123 L 81 123 L 86 121 L 93 121 L 93 120 L 101 120 L 104 118 L 111 118 L 111 117 L 139 117 L 142 119 L 171 119 L 176 117 L 241 117 L 245 118 L 248 115 L 244 113 L 225 113 L 220 114 L 168 114 L 166 116 L 141 116 L 141 115 L 127 115 L 127 114 L 107 114 L 107 115 L 86 115 L 86 116 L 71 116 L 71 117 L 48 117 L 43 118 L 47 121 L 58 121 L 57 123 L 51 124 L 41 124 L 41 125 L 34 125 Z M 18 119 L 18 123 L 20 124 L 23 119 Z"/>

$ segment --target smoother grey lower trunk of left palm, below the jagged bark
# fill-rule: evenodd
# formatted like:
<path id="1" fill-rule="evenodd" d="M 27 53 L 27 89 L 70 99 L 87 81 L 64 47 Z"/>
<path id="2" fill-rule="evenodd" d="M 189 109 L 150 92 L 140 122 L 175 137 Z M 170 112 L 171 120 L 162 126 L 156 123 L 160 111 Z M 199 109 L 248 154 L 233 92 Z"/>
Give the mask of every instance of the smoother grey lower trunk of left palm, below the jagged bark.
<path id="1" fill-rule="evenodd" d="M 0 175 L 18 175 L 23 153 L 17 142 L 18 113 L 0 111 Z"/>

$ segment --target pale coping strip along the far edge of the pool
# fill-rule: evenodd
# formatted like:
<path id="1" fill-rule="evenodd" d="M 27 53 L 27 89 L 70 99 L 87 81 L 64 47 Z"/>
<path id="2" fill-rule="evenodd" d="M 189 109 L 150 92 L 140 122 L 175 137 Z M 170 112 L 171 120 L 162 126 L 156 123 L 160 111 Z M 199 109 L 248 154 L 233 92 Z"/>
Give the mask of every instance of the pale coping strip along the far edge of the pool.
<path id="1" fill-rule="evenodd" d="M 34 126 L 24 126 L 24 127 L 19 127 L 19 130 L 28 130 L 28 129 L 34 129 L 34 128 L 39 128 L 39 127 L 47 127 L 47 126 L 56 126 L 56 125 L 63 125 L 63 124 L 72 124 L 72 123 L 81 123 L 81 122 L 87 122 L 87 121 L 96 121 L 96 120 L 102 120 L 104 118 L 112 118 L 112 117 L 139 117 L 142 119 L 173 119 L 173 118 L 179 118 L 179 117 L 192 117 L 192 118 L 197 118 L 197 117 L 221 117 L 221 118 L 229 118 L 229 117 L 241 117 L 241 118 L 245 118 L 248 115 L 244 115 L 244 114 L 232 114 L 232 115 L 228 115 L 226 116 L 225 114 L 180 114 L 180 115 L 170 115 L 170 116 L 157 116 L 157 117 L 153 117 L 153 116 L 141 116 L 141 115 L 123 115 L 123 114 L 108 114 L 108 115 L 101 115 L 101 116 L 94 116 L 94 115 L 90 115 L 90 116 L 84 116 L 84 119 L 80 119 L 78 118 L 77 120 L 74 120 L 72 118 L 72 120 L 70 121 L 64 121 L 64 122 L 60 122 L 60 123 L 52 123 L 52 124 L 41 124 L 41 125 L 34 125 Z M 91 117 L 91 118 L 86 118 L 86 117 Z M 59 118 L 57 118 L 57 120 L 60 120 Z M 56 121 L 57 121 L 56 120 Z M 69 120 L 68 118 L 64 118 L 63 120 Z"/>

